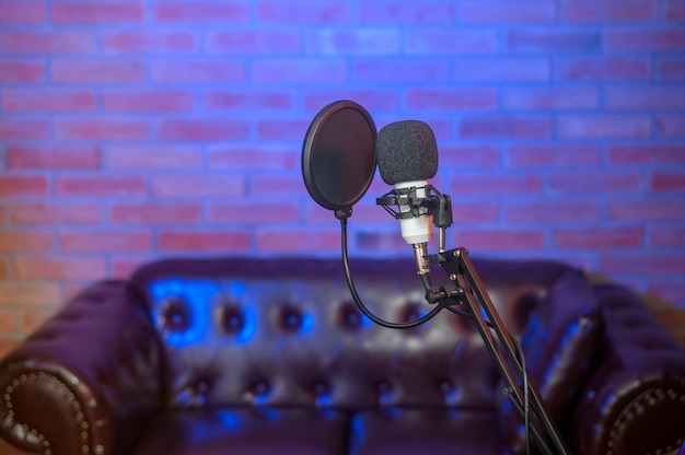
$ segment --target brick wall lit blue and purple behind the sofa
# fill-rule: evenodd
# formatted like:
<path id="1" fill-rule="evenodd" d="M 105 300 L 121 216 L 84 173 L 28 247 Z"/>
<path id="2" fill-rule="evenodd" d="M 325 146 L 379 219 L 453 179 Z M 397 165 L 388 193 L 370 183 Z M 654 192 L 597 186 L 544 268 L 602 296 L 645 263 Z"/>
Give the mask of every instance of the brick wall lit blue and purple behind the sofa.
<path id="1" fill-rule="evenodd" d="M 0 0 L 0 346 L 171 255 L 338 256 L 304 133 L 431 125 L 450 246 L 685 306 L 682 0 Z M 351 254 L 407 257 L 355 208 Z"/>

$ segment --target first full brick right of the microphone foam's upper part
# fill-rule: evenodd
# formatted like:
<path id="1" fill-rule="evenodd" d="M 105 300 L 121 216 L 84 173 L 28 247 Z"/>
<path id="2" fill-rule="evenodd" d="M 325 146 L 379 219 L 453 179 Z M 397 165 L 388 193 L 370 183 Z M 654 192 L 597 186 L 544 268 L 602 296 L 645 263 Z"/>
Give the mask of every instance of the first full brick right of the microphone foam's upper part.
<path id="1" fill-rule="evenodd" d="M 460 137 L 464 139 L 549 138 L 552 121 L 547 116 L 483 116 L 461 120 Z"/>

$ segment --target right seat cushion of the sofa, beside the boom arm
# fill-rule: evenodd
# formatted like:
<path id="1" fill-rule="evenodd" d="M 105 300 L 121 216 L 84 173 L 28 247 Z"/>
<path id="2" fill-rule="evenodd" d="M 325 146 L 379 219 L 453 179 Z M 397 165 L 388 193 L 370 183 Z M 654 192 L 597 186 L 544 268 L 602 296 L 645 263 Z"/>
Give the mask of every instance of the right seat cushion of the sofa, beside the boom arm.
<path id="1" fill-rule="evenodd" d="M 494 455 L 500 453 L 494 411 L 380 408 L 356 415 L 355 455 Z"/>

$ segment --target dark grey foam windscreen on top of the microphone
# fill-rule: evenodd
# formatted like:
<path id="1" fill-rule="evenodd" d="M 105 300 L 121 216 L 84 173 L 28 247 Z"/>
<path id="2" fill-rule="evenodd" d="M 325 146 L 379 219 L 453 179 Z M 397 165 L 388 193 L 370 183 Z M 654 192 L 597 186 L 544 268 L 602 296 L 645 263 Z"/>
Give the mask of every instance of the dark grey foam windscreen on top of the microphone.
<path id="1" fill-rule="evenodd" d="M 438 172 L 438 144 L 428 124 L 403 120 L 381 128 L 375 158 L 383 182 L 427 180 Z"/>

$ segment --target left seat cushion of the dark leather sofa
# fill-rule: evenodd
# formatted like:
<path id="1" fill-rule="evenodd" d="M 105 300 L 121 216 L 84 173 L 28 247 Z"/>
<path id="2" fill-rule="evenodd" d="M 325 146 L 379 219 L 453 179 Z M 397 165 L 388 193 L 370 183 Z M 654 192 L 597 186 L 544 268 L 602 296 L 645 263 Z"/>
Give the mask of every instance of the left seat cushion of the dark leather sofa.
<path id="1" fill-rule="evenodd" d="M 173 410 L 153 422 L 133 455 L 341 455 L 348 420 L 316 408 Z"/>

